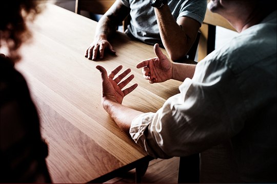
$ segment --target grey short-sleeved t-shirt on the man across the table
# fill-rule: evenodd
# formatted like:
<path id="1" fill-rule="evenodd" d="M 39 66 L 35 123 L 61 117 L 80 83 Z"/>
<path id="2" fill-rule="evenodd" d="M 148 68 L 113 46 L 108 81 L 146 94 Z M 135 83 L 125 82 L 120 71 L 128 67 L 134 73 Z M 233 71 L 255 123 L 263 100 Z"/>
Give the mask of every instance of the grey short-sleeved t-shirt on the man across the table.
<path id="1" fill-rule="evenodd" d="M 131 9 L 131 21 L 127 35 L 148 44 L 159 43 L 163 45 L 154 8 L 150 6 L 151 0 L 121 0 L 121 2 Z M 202 24 L 206 13 L 207 1 L 169 0 L 168 6 L 175 20 L 187 16 Z"/>

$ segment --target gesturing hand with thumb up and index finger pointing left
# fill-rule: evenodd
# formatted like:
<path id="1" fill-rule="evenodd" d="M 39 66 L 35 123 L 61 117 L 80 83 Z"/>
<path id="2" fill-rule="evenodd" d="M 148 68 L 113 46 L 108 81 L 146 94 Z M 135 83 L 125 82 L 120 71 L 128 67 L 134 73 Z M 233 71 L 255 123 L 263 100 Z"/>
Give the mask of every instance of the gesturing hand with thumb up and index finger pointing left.
<path id="1" fill-rule="evenodd" d="M 143 76 L 150 83 L 164 82 L 172 78 L 172 62 L 163 54 L 159 44 L 154 45 L 156 58 L 141 61 L 136 68 L 142 68 Z"/>

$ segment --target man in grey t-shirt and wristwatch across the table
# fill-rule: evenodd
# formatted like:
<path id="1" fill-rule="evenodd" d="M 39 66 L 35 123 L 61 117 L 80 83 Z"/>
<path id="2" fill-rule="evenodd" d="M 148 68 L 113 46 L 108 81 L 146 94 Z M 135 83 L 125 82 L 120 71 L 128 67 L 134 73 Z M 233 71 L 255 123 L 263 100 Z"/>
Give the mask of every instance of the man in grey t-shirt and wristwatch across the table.
<path id="1" fill-rule="evenodd" d="M 185 58 L 204 20 L 206 8 L 207 1 L 116 0 L 99 20 L 85 57 L 96 60 L 103 59 L 107 50 L 115 53 L 108 40 L 130 15 L 127 35 L 147 44 L 159 43 L 173 61 Z"/>

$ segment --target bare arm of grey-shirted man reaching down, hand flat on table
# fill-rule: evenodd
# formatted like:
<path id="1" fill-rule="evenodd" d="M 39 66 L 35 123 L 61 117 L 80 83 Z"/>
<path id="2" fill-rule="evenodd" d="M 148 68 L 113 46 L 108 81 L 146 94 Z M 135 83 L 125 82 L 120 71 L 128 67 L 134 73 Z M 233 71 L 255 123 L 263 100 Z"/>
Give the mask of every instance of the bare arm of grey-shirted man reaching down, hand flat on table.
<path id="1" fill-rule="evenodd" d="M 104 57 L 105 49 L 115 54 L 108 39 L 116 32 L 116 28 L 130 13 L 120 0 L 117 0 L 111 8 L 98 21 L 93 42 L 86 50 L 85 57 L 96 60 Z"/>

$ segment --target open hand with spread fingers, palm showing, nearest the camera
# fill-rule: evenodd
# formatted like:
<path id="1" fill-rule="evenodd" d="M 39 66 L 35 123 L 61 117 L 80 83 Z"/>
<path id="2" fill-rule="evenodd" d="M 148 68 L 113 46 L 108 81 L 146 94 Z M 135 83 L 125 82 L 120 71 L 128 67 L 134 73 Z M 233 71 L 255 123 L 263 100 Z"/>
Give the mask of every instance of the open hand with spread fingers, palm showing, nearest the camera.
<path id="1" fill-rule="evenodd" d="M 103 106 L 106 100 L 111 100 L 113 102 L 122 104 L 123 98 L 137 87 L 137 84 L 133 84 L 131 87 L 122 90 L 134 78 L 134 75 L 132 74 L 128 78 L 123 80 L 123 78 L 125 78 L 131 72 L 130 68 L 126 69 L 118 76 L 116 75 L 122 70 L 122 65 L 114 68 L 114 70 L 111 71 L 109 75 L 107 74 L 107 71 L 103 66 L 97 65 L 96 68 L 101 72 L 102 77 Z M 115 76 L 116 78 L 114 78 Z"/>

